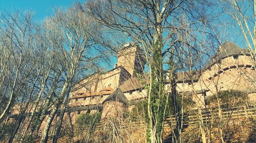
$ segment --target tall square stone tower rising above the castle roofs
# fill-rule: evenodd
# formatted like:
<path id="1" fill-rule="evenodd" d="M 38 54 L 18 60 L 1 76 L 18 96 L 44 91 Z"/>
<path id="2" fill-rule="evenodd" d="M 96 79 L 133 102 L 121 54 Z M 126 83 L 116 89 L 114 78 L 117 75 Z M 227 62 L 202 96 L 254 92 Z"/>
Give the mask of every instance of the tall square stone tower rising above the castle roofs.
<path id="1" fill-rule="evenodd" d="M 137 45 L 127 43 L 118 51 L 117 66 L 123 66 L 132 77 L 143 73 L 145 60 L 142 51 Z"/>

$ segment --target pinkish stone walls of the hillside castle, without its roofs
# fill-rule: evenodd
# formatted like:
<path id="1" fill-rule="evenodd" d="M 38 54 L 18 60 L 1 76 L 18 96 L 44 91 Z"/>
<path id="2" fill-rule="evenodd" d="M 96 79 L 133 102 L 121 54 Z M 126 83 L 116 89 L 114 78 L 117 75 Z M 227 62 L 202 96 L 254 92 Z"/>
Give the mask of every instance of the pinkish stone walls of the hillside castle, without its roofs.
<path id="1" fill-rule="evenodd" d="M 102 118 L 106 118 L 107 115 L 121 116 L 119 112 L 124 111 L 124 106 L 121 102 L 108 101 L 105 102 L 105 104 L 102 103 L 113 93 L 115 89 L 120 87 L 120 85 L 127 79 L 131 78 L 134 74 L 134 70 L 138 68 L 134 63 L 137 57 L 134 54 L 137 51 L 137 47 L 135 46 L 128 50 L 130 51 L 126 51 L 126 56 L 121 54 L 118 56 L 118 65 L 120 67 L 116 67 L 104 74 L 94 74 L 81 80 L 75 85 L 73 88 L 75 90 L 70 93 L 69 107 L 92 107 L 95 105 L 101 105 L 101 108 L 95 106 L 90 109 L 83 108 L 81 110 L 73 110 L 70 112 L 70 115 L 65 113 L 65 118 L 71 118 L 72 124 L 75 124 L 77 117 L 81 113 L 95 113 L 101 109 Z M 196 106 L 202 107 L 205 104 L 205 98 L 216 94 L 217 91 L 240 90 L 247 91 L 247 93 L 250 90 L 253 91 L 253 89 L 255 91 L 256 72 L 255 67 L 252 65 L 250 56 L 229 56 L 222 59 L 221 63 L 215 63 L 201 72 L 198 81 L 193 83 L 189 83 L 187 81 L 182 82 L 182 80 L 179 81 L 176 87 L 177 92 L 192 93 L 190 96 L 196 102 Z M 106 90 L 107 88 L 108 90 Z M 171 88 L 172 86 L 169 83 L 166 83 L 166 92 L 171 92 Z M 206 93 L 198 93 L 197 91 L 206 91 Z M 124 91 L 123 94 L 129 102 L 147 98 L 147 90 L 144 89 L 144 87 Z M 249 93 L 248 96 L 256 101 L 256 93 Z M 19 113 L 18 106 L 13 107 L 12 113 Z M 47 117 L 45 119 L 47 119 Z M 56 119 L 58 119 L 58 117 L 56 117 L 54 121 Z M 65 122 L 66 121 L 68 122 L 69 120 L 65 120 Z M 45 122 L 46 121 L 42 124 L 42 127 Z"/>

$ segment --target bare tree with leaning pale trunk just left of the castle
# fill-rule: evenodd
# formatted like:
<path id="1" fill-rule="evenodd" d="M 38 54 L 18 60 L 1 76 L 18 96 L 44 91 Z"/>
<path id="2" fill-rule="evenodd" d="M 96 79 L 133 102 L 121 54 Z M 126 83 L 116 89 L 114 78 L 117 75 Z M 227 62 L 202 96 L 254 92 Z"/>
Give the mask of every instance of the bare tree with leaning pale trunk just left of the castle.
<path id="1" fill-rule="evenodd" d="M 85 16 L 74 9 L 57 10 L 55 16 L 49 18 L 45 26 L 49 42 L 56 49 L 58 60 L 63 62 L 61 63 L 60 72 L 64 83 L 58 96 L 53 101 L 52 110 L 42 132 L 41 142 L 47 142 L 52 121 L 57 111 L 61 108 L 53 136 L 53 142 L 57 142 L 74 75 L 81 62 L 89 63 L 99 58 L 99 56 L 96 56 L 97 53 L 88 53 L 95 50 L 93 48 L 96 45 L 94 39 L 99 34 L 98 30 L 100 28 L 89 16 Z"/>

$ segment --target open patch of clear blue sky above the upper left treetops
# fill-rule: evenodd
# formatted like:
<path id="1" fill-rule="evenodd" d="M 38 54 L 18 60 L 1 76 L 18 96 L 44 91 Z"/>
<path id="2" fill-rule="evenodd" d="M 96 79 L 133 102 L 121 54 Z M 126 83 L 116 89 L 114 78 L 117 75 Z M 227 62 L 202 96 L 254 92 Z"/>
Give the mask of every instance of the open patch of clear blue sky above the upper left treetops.
<path id="1" fill-rule="evenodd" d="M 53 8 L 68 8 L 71 7 L 74 2 L 74 0 L 0 0 L 0 10 L 31 10 L 35 12 L 35 20 L 41 20 L 51 15 Z M 76 0 L 76 2 L 83 3 L 84 0 Z"/>

